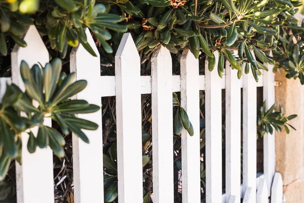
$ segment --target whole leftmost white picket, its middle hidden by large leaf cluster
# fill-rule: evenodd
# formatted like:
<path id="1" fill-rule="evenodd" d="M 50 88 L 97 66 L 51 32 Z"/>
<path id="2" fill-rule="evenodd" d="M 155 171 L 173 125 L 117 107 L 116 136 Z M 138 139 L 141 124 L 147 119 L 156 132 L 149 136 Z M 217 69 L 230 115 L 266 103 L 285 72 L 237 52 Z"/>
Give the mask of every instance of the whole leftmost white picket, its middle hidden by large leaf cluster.
<path id="1" fill-rule="evenodd" d="M 40 62 L 43 66 L 49 62 L 49 52 L 45 47 L 39 32 L 34 25 L 29 26 L 23 40 L 26 47 L 15 45 L 12 52 L 12 82 L 25 91 L 20 74 L 20 63 L 26 61 L 31 67 Z M 45 119 L 45 125 L 52 126 L 50 118 Z M 37 134 L 37 127 L 32 132 Z M 16 183 L 18 203 L 54 202 L 53 180 L 53 151 L 48 147 L 30 154 L 27 151 L 28 134 L 23 132 L 22 137 L 22 165 L 16 162 Z"/>

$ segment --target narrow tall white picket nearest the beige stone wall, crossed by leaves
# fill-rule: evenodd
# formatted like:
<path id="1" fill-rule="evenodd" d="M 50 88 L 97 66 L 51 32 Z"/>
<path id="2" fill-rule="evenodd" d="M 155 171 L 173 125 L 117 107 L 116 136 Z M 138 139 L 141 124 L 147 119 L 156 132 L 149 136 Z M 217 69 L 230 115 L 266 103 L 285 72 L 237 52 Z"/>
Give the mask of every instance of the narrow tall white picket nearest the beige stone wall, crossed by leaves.
<path id="1" fill-rule="evenodd" d="M 272 52 L 270 56 L 272 56 Z M 266 110 L 269 110 L 275 104 L 275 74 L 273 73 L 273 67 L 274 65 L 269 63 L 269 71 L 263 71 L 263 97 L 266 100 Z M 264 134 L 263 150 L 264 176 L 268 187 L 268 196 L 270 196 L 276 167 L 275 133 Z"/>

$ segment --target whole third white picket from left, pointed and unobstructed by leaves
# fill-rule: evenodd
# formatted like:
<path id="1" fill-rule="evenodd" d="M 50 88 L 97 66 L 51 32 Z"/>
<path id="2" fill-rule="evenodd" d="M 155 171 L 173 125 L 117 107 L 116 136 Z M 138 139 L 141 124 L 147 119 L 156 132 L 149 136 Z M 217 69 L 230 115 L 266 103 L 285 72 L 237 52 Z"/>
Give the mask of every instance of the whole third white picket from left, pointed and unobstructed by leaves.
<path id="1" fill-rule="evenodd" d="M 118 201 L 139 203 L 142 202 L 140 59 L 130 33 L 123 35 L 115 65 Z"/>

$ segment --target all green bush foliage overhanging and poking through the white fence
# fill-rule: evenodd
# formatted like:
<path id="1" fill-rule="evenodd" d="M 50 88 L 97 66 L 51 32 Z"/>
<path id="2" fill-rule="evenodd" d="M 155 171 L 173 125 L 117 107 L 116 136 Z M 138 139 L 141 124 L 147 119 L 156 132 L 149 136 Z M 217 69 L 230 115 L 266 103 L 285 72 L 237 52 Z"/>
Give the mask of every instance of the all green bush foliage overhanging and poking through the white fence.
<path id="1" fill-rule="evenodd" d="M 49 49 L 50 59 L 61 57 L 68 61 L 71 48 L 79 44 L 96 56 L 87 42 L 84 30 L 87 27 L 97 46 L 101 47 L 98 49 L 101 55 L 113 63 L 113 54 L 118 49 L 123 33 L 128 31 L 142 56 L 143 66 L 157 48 L 164 46 L 177 58 L 184 48 L 188 48 L 196 58 L 207 55 L 209 71 L 213 71 L 213 52 L 218 51 L 219 63 L 216 69 L 219 77 L 224 72 L 225 57 L 232 69 L 238 70 L 239 78 L 243 72 L 251 72 L 257 81 L 261 70 L 268 70 L 264 63 L 272 63 L 275 69 L 283 68 L 287 78 L 299 78 L 301 84 L 304 84 L 304 22 L 298 22 L 293 17 L 299 6 L 300 2 L 289 0 L 8 0 L 0 5 L 0 53 L 5 60 L 14 43 L 25 47 L 22 36 L 27 27 L 34 24 Z M 25 62 L 22 63 L 21 74 L 26 92 L 23 93 L 15 85 L 8 86 L 0 110 L 2 179 L 11 160 L 21 160 L 19 135 L 32 126 L 40 126 L 40 130 L 37 138 L 27 130 L 29 152 L 34 152 L 36 146 L 44 148 L 49 145 L 56 155 L 63 156 L 64 139 L 56 129 L 43 125 L 44 117 L 55 120 L 63 134 L 68 134 L 70 130 L 86 142 L 88 140 L 81 129 L 98 127 L 74 117 L 74 114 L 90 113 L 98 108 L 84 100 L 67 100 L 86 86 L 85 81 L 71 84 L 73 74 L 60 75 L 59 59 L 54 59 L 42 69 L 35 65 L 31 71 Z M 246 65 L 243 67 L 244 62 Z M 142 72 L 147 73 L 146 69 Z M 53 80 L 49 81 L 48 78 Z M 177 96 L 173 98 L 177 113 L 184 112 L 178 106 Z M 38 101 L 39 106 L 33 106 L 32 100 Z M 20 111 L 27 116 L 19 116 Z M 260 117 L 266 114 L 262 107 Z M 185 118 L 186 113 L 182 115 Z M 261 136 L 265 132 L 272 132 L 271 124 L 276 130 L 281 130 L 279 125 L 283 125 L 289 131 L 285 123 L 295 117 L 285 117 L 282 111 L 272 115 L 274 119 L 259 120 Z M 186 119 L 181 121 L 177 123 L 183 126 L 187 124 Z M 192 134 L 190 125 L 189 134 Z M 175 133 L 180 134 L 181 126 L 175 127 Z"/>

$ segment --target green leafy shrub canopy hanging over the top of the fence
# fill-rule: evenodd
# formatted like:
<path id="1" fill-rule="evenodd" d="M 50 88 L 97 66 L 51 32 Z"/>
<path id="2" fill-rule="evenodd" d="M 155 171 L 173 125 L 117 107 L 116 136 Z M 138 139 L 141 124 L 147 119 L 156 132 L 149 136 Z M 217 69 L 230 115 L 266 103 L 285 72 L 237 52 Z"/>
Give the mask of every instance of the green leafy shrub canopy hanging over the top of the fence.
<path id="1" fill-rule="evenodd" d="M 145 55 L 161 45 L 173 53 L 187 47 L 196 58 L 204 52 L 212 61 L 212 52 L 217 50 L 220 61 L 225 56 L 239 71 L 239 77 L 251 70 L 258 80 L 261 70 L 268 70 L 263 62 L 275 64 L 276 60 L 289 58 L 296 43 L 302 53 L 302 40 L 298 37 L 303 28 L 295 26 L 297 20 L 292 18 L 299 6 L 299 1 L 289 0 L 7 0 L 0 6 L 0 43 L 5 45 L 10 36 L 20 46 L 26 46 L 21 36 L 26 26 L 35 24 L 41 35 L 47 36 L 50 47 L 64 58 L 68 47 L 79 43 L 95 55 L 87 43 L 85 27 L 106 53 L 115 52 L 122 33 L 129 31 L 138 51 Z M 296 43 L 291 43 L 289 30 L 297 33 Z M 2 46 L 0 53 L 6 55 L 7 50 Z M 270 50 L 275 57 L 267 56 Z M 238 51 L 238 56 L 232 51 Z M 246 62 L 244 70 L 242 62 Z M 303 81 L 302 61 L 294 62 L 278 66 L 284 66 L 288 78 L 299 77 Z M 209 67 L 213 68 L 214 65 Z M 217 70 L 221 76 L 222 63 Z"/>

